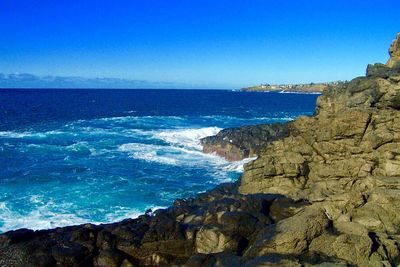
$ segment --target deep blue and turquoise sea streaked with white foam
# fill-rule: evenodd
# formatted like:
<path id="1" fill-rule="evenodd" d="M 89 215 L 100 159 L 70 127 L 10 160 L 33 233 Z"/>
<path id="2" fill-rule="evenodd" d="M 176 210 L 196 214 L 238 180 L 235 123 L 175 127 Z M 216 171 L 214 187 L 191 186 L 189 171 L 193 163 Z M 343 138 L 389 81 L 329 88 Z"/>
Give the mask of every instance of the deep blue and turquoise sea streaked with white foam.
<path id="1" fill-rule="evenodd" d="M 106 223 L 234 181 L 201 152 L 223 128 L 311 115 L 317 95 L 0 90 L 0 232 Z"/>

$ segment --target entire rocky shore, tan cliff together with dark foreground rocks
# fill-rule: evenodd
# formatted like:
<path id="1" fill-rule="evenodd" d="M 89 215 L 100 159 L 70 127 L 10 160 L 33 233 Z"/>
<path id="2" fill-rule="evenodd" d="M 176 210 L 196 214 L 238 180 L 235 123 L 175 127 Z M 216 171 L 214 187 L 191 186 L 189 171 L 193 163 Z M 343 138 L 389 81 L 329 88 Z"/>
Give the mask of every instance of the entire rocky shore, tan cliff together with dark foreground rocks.
<path id="1" fill-rule="evenodd" d="M 315 116 L 264 143 L 237 183 L 134 220 L 5 233 L 0 265 L 398 265 L 399 39 L 387 65 L 330 87 Z"/>

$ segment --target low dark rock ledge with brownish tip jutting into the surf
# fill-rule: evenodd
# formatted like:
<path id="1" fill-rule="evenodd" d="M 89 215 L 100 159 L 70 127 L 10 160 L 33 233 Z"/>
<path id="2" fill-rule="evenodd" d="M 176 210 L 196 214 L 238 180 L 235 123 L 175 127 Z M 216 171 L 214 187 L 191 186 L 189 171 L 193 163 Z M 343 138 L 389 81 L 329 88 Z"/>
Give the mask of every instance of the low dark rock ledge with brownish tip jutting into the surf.
<path id="1" fill-rule="evenodd" d="M 230 161 L 257 156 L 268 143 L 287 137 L 290 123 L 228 128 L 201 139 L 204 153 L 216 153 Z"/>

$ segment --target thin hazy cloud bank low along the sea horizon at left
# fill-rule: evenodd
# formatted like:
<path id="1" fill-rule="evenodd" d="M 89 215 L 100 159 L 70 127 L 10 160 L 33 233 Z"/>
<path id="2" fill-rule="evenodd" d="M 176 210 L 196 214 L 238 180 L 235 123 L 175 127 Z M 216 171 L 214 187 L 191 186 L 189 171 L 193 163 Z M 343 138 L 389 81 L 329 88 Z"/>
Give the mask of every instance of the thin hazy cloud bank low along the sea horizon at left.
<path id="1" fill-rule="evenodd" d="M 183 84 L 118 78 L 38 76 L 29 73 L 0 73 L 0 88 L 182 88 Z"/>

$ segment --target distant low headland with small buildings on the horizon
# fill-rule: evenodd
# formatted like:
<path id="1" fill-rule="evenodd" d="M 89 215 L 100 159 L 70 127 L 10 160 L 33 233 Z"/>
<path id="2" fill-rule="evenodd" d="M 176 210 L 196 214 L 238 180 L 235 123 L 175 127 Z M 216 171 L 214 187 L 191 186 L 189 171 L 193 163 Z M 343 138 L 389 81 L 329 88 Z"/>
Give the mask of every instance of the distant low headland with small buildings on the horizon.
<path id="1" fill-rule="evenodd" d="M 342 85 L 346 82 L 335 81 L 326 83 L 306 84 L 260 84 L 242 88 L 246 92 L 299 92 L 299 93 L 322 93 L 332 86 Z"/>

